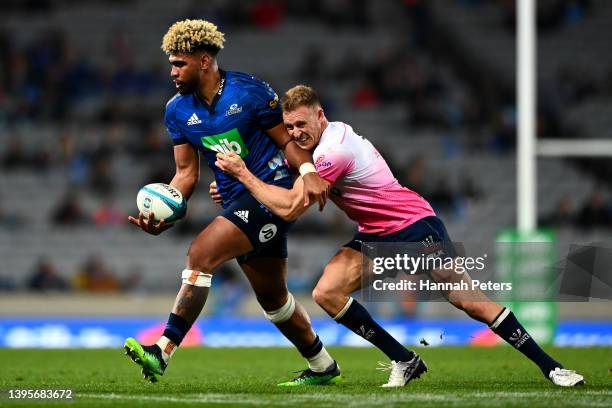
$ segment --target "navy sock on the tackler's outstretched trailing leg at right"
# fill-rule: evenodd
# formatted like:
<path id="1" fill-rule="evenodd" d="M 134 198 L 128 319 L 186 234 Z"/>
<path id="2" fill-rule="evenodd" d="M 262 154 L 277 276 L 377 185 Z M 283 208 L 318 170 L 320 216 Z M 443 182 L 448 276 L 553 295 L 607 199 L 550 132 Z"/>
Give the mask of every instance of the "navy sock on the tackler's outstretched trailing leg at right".
<path id="1" fill-rule="evenodd" d="M 504 308 L 489 327 L 508 344 L 536 363 L 546 378 L 556 367 L 563 368 L 538 346 L 538 343 L 527 333 L 510 309 Z"/>

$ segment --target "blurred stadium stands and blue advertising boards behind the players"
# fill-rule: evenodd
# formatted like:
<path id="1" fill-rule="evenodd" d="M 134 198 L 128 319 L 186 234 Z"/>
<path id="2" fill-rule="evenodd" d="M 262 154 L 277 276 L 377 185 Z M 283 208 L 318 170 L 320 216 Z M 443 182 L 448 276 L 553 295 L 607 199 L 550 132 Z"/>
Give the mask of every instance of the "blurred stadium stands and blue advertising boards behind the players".
<path id="1" fill-rule="evenodd" d="M 538 137 L 610 138 L 605 0 L 538 2 Z M 217 213 L 203 168 L 188 219 L 159 237 L 128 225 L 138 188 L 168 181 L 159 49 L 186 17 L 226 33 L 220 66 L 282 93 L 317 88 L 331 120 L 371 139 L 429 199 L 456 241 L 516 224 L 514 1 L 5 0 L 0 18 L 0 346 L 119 346 L 156 338 L 190 240 Z M 541 159 L 538 220 L 556 247 L 610 241 L 612 165 Z M 290 239 L 290 289 L 327 344 L 362 345 L 310 300 L 353 233 L 332 204 Z M 609 302 L 560 303 L 558 345 L 611 345 Z M 444 303 L 371 309 L 408 344 L 465 344 L 486 330 Z M 441 336 L 444 334 L 444 336 Z M 235 264 L 216 274 L 191 344 L 284 344 Z"/>

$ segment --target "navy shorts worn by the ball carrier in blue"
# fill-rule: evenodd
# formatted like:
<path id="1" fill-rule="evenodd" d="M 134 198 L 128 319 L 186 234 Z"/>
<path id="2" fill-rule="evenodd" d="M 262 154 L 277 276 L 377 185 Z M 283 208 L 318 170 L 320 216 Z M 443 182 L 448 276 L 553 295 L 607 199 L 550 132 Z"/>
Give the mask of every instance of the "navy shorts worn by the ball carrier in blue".
<path id="1" fill-rule="evenodd" d="M 287 258 L 287 232 L 292 223 L 274 215 L 248 191 L 220 215 L 240 228 L 253 245 L 251 252 L 236 258 L 239 263 L 251 258 Z"/>

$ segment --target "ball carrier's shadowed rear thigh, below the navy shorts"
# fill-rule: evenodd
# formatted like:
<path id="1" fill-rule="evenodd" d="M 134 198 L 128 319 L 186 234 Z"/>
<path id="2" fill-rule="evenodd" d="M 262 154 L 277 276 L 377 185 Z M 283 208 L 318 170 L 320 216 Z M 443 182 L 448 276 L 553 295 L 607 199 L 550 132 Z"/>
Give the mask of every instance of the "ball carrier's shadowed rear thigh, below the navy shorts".
<path id="1" fill-rule="evenodd" d="M 287 258 L 254 257 L 240 267 L 265 310 L 276 310 L 287 302 Z"/>

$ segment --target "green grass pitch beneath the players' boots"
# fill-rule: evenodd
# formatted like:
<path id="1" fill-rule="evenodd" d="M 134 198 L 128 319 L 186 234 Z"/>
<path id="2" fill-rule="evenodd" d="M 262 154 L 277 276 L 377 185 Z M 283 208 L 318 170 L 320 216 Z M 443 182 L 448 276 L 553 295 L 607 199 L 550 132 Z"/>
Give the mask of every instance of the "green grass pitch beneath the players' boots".
<path id="1" fill-rule="evenodd" d="M 429 372 L 407 387 L 384 389 L 375 349 L 330 347 L 344 381 L 333 386 L 276 387 L 303 368 L 289 348 L 185 348 L 162 381 L 144 382 L 122 349 L 0 350 L 0 406 L 59 406 L 19 402 L 8 389 L 74 390 L 71 407 L 612 407 L 612 348 L 556 348 L 551 353 L 587 380 L 561 389 L 545 381 L 510 347 L 420 348 Z"/>

